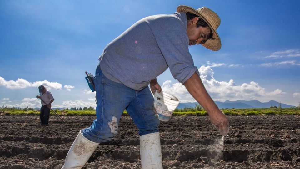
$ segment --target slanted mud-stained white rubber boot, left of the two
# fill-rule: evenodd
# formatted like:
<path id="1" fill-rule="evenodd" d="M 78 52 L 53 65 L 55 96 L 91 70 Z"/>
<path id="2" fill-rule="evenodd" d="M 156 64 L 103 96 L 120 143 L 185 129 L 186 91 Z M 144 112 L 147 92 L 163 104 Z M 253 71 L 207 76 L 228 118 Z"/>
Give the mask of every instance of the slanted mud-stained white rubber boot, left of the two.
<path id="1" fill-rule="evenodd" d="M 81 169 L 99 145 L 99 143 L 85 138 L 82 132 L 83 130 L 79 131 L 79 134 L 73 142 L 62 169 Z"/>

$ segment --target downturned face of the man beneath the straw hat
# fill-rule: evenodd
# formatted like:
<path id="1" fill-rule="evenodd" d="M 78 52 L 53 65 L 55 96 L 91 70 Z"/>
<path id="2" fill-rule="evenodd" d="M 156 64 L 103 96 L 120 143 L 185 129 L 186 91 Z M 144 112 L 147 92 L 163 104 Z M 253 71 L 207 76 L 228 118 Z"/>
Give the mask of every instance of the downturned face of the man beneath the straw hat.
<path id="1" fill-rule="evenodd" d="M 187 22 L 187 36 L 189 39 L 189 45 L 204 44 L 210 35 L 209 27 L 197 28 L 197 21 L 199 18 L 193 18 L 191 21 Z"/>

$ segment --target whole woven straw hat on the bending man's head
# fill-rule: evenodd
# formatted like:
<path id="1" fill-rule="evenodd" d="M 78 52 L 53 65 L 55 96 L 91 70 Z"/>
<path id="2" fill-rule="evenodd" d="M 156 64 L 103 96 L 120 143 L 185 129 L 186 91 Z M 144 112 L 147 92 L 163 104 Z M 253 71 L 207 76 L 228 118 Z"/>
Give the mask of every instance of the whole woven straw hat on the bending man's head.
<path id="1" fill-rule="evenodd" d="M 198 15 L 200 18 L 202 18 L 208 26 L 212 29 L 212 36 L 215 38 L 215 40 L 209 39 L 205 42 L 205 44 L 202 44 L 207 49 L 210 50 L 220 50 L 221 48 L 221 39 L 217 33 L 217 28 L 219 27 L 221 23 L 221 19 L 217 15 L 217 13 L 213 12 L 207 7 L 202 7 L 197 10 L 195 10 L 192 7 L 186 6 L 186 5 L 179 5 L 177 7 L 177 12 L 189 12 Z"/>

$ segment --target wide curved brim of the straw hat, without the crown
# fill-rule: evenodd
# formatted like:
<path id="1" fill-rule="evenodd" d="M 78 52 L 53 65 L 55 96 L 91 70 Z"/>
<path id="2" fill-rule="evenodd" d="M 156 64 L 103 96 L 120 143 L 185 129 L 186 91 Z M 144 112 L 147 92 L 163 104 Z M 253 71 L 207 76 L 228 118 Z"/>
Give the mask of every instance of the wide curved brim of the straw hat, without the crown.
<path id="1" fill-rule="evenodd" d="M 202 46 L 206 47 L 207 49 L 214 50 L 214 51 L 218 51 L 221 49 L 222 44 L 221 44 L 221 39 L 219 37 L 219 34 L 217 33 L 217 30 L 211 26 L 209 20 L 206 17 L 204 17 L 201 13 L 199 13 L 194 8 L 186 6 L 186 5 L 179 5 L 177 7 L 177 12 L 185 12 L 185 13 L 189 12 L 189 13 L 196 14 L 200 18 L 202 18 L 208 24 L 208 26 L 211 28 L 212 37 L 215 38 L 214 40 L 208 39 L 205 42 L 205 44 L 202 44 Z"/>

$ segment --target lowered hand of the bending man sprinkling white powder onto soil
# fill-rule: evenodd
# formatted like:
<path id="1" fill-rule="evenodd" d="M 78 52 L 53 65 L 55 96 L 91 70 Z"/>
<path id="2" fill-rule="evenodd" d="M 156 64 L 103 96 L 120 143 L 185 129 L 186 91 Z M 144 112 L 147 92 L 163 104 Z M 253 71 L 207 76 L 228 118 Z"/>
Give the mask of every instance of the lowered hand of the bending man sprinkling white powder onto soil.
<path id="1" fill-rule="evenodd" d="M 221 110 L 212 111 L 209 114 L 209 120 L 212 125 L 220 132 L 222 136 L 227 136 L 229 132 L 229 121 Z"/>

